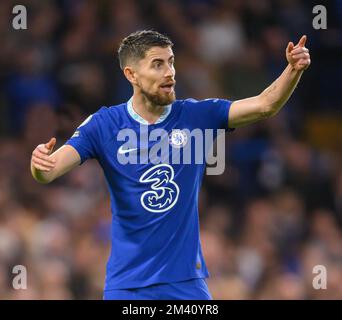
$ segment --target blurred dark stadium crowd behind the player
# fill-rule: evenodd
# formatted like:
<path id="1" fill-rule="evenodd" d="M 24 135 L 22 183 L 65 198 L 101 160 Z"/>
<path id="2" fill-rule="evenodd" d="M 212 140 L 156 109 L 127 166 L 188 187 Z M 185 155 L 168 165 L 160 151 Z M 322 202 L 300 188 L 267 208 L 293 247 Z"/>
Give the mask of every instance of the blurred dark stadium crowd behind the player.
<path id="1" fill-rule="evenodd" d="M 226 171 L 205 177 L 202 246 L 215 299 L 342 298 L 342 2 L 21 1 L 28 29 L 0 2 L 0 299 L 101 299 L 109 198 L 88 161 L 49 185 L 29 170 L 34 147 L 61 146 L 90 113 L 131 95 L 119 41 L 153 28 L 175 43 L 178 98 L 258 94 L 308 35 L 312 66 L 274 118 L 226 139 Z M 328 29 L 314 30 L 323 4 Z M 14 290 L 24 265 L 27 290 Z M 313 267 L 328 271 L 314 290 Z"/>

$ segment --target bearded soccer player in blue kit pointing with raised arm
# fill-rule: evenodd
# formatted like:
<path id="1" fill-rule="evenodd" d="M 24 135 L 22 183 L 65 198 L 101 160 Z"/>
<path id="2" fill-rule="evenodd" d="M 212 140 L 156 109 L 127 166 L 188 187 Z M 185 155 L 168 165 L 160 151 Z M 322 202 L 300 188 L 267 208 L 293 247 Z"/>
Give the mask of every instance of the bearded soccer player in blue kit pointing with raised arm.
<path id="1" fill-rule="evenodd" d="M 257 96 L 234 102 L 176 100 L 173 43 L 156 31 L 132 33 L 118 50 L 132 98 L 90 115 L 54 153 L 55 138 L 35 148 L 31 172 L 40 183 L 50 183 L 90 158 L 103 169 L 112 212 L 104 299 L 212 299 L 198 221 L 205 163 L 140 161 L 156 143 L 141 144 L 141 132 L 165 130 L 173 153 L 186 143 L 184 129 L 230 131 L 274 116 L 310 65 L 305 42 L 304 35 L 297 45 L 288 44 L 287 67 Z M 125 129 L 137 133 L 137 143 L 127 145 L 119 137 Z M 138 153 L 135 163 L 120 161 Z"/>

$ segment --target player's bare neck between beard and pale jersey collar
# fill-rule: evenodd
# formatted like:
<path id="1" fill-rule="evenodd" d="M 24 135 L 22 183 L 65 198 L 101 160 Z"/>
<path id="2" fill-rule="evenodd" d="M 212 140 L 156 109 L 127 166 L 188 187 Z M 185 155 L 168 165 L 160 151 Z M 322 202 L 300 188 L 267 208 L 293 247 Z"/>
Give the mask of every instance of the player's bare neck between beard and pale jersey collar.
<path id="1" fill-rule="evenodd" d="M 153 104 L 144 96 L 133 95 L 133 110 L 149 124 L 154 124 L 164 111 L 164 106 Z"/>

